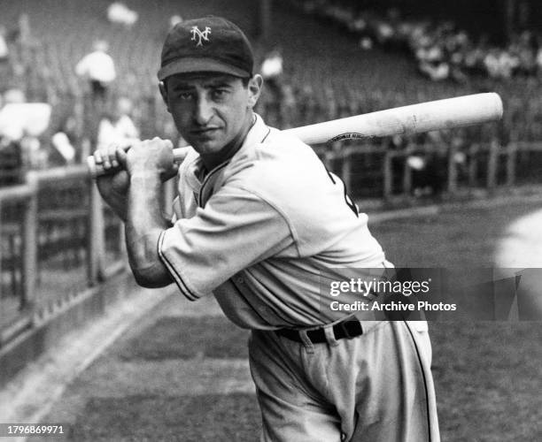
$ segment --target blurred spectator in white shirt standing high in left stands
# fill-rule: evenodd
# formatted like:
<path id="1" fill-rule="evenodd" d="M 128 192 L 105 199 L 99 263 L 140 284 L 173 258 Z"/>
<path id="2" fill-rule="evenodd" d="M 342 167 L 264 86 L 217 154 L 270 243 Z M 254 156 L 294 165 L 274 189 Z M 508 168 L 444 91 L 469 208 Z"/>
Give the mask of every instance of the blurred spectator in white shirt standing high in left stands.
<path id="1" fill-rule="evenodd" d="M 109 86 L 117 77 L 115 63 L 107 53 L 109 45 L 104 40 L 94 43 L 94 51 L 81 58 L 75 66 L 75 73 L 90 81 L 93 103 L 104 104 Z"/>

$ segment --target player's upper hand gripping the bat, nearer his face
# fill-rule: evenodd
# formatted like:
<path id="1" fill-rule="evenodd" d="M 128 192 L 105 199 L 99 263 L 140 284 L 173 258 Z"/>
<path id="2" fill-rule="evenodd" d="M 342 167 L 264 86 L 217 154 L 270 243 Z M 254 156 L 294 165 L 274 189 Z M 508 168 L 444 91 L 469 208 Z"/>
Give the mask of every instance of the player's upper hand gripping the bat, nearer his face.
<path id="1" fill-rule="evenodd" d="M 160 179 L 166 181 L 179 169 L 174 164 L 173 143 L 159 137 L 133 143 L 126 152 L 117 150 L 116 157 L 130 176 L 141 171 L 156 171 Z"/>

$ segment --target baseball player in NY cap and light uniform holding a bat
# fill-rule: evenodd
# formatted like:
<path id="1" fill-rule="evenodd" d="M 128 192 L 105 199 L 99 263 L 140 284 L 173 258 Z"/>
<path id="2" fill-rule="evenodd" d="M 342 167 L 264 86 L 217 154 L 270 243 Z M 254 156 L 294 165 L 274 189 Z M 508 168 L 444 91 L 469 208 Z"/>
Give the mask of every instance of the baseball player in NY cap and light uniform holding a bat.
<path id="1" fill-rule="evenodd" d="M 158 74 L 192 147 L 181 166 L 159 138 L 95 153 L 106 170 L 123 168 L 97 185 L 126 223 L 134 276 L 147 287 L 174 282 L 190 301 L 213 294 L 252 330 L 261 440 L 436 442 L 427 324 L 329 309 L 322 275 L 391 264 L 342 181 L 253 111 L 263 80 L 252 68 L 234 24 L 183 21 Z M 171 222 L 160 188 L 175 174 Z"/>

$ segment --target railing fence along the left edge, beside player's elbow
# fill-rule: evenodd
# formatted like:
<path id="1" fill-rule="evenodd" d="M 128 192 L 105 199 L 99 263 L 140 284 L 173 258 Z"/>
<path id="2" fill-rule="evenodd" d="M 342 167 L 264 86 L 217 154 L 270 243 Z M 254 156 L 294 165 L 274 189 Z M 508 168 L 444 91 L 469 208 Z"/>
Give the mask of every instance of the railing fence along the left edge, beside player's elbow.
<path id="1" fill-rule="evenodd" d="M 0 347 L 124 266 L 122 225 L 83 165 L 0 187 Z"/>

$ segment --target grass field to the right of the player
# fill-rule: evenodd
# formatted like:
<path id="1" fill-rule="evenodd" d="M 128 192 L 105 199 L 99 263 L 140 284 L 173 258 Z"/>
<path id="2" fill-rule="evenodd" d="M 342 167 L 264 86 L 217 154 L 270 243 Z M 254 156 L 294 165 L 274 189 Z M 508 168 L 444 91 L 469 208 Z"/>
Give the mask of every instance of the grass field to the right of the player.
<path id="1" fill-rule="evenodd" d="M 491 267 L 507 226 L 535 210 L 521 201 L 446 210 L 371 230 L 398 266 Z M 542 439 L 541 323 L 432 323 L 430 332 L 443 440 Z"/>

